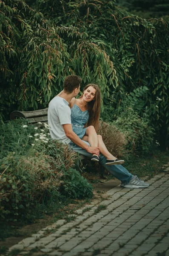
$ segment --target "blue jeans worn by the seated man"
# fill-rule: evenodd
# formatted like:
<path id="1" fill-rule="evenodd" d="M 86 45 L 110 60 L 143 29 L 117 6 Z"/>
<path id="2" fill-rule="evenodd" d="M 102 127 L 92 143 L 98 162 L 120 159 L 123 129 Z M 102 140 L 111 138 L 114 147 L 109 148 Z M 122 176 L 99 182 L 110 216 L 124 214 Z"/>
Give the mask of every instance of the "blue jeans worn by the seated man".
<path id="1" fill-rule="evenodd" d="M 90 146 L 90 144 L 83 140 L 84 143 Z M 74 143 L 70 142 L 69 145 L 74 149 L 74 151 L 78 152 L 79 154 L 82 154 L 86 157 L 92 157 L 92 154 L 84 150 L 83 148 L 78 147 Z M 124 168 L 121 165 L 112 165 L 107 166 L 106 163 L 106 157 L 104 157 L 102 154 L 99 156 L 99 163 L 103 165 L 113 176 L 115 176 L 118 180 L 121 180 L 124 184 L 129 183 L 129 181 L 132 179 L 133 175 L 129 173 L 129 171 Z"/>

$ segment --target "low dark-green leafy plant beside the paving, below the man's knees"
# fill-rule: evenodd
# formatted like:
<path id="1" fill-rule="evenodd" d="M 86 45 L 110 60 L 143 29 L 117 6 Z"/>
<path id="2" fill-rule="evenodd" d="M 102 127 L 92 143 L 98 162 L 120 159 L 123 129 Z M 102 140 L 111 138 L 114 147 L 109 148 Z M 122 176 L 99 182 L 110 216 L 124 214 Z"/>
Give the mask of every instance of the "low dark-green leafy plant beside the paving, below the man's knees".
<path id="1" fill-rule="evenodd" d="M 63 194 L 73 198 L 92 198 L 92 185 L 79 172 L 71 168 L 64 173 L 64 176 Z"/>

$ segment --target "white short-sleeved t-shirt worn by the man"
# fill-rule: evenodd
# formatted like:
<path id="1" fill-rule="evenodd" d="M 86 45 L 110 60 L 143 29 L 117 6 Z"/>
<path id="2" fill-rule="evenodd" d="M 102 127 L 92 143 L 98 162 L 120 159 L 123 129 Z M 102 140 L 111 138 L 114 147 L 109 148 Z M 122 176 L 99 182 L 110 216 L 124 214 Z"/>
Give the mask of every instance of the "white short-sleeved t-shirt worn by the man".
<path id="1" fill-rule="evenodd" d="M 67 144 L 71 141 L 66 137 L 63 129 L 63 125 L 71 124 L 71 110 L 66 99 L 57 96 L 51 100 L 48 108 L 48 124 L 50 125 L 52 139 Z"/>

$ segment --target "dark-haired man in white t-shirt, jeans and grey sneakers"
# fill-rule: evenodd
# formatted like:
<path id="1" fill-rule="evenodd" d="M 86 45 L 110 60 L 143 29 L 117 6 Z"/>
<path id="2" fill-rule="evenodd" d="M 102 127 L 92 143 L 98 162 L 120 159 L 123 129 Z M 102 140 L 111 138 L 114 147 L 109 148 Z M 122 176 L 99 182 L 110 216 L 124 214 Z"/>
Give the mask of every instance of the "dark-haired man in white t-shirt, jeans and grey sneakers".
<path id="1" fill-rule="evenodd" d="M 53 139 L 60 140 L 69 144 L 71 141 L 76 144 L 72 148 L 79 154 L 92 157 L 92 154 L 99 155 L 98 147 L 91 147 L 86 141 L 80 138 L 72 131 L 71 110 L 69 102 L 76 97 L 80 91 L 81 79 L 78 76 L 67 76 L 63 84 L 63 92 L 60 96 L 54 97 L 48 108 L 48 123 L 51 125 L 50 134 Z M 146 188 L 149 186 L 137 176 L 129 173 L 121 165 L 106 165 L 106 157 L 102 154 L 99 156 L 99 163 L 102 164 L 112 175 L 121 180 L 121 186 L 126 188 Z"/>

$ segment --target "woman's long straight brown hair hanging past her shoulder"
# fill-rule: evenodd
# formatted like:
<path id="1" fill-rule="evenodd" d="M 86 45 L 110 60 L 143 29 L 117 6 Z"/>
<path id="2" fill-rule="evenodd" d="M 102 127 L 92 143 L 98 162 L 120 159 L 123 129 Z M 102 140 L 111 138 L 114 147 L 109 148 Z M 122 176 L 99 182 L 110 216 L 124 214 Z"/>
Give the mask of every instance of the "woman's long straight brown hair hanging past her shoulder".
<path id="1" fill-rule="evenodd" d="M 91 102 L 88 102 L 87 104 L 87 107 L 89 110 L 89 120 L 84 127 L 93 125 L 97 132 L 99 128 L 99 119 L 100 119 L 101 93 L 100 93 L 100 88 L 98 87 L 97 84 L 87 84 L 83 90 L 83 94 L 84 94 L 84 91 L 89 86 L 92 86 L 96 90 L 96 93 L 95 93 L 94 100 L 92 100 Z M 83 94 L 80 96 L 79 99 L 83 97 Z"/>

